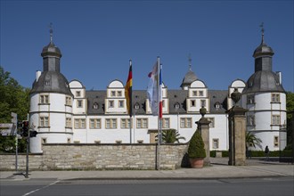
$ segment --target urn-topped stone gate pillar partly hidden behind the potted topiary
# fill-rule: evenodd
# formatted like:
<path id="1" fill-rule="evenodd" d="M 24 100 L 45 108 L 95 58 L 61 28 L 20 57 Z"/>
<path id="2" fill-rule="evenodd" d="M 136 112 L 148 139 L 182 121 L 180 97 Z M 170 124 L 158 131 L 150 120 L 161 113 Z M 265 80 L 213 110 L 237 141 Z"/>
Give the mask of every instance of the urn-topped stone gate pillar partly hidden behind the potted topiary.
<path id="1" fill-rule="evenodd" d="M 198 126 L 198 129 L 200 130 L 200 134 L 203 139 L 204 148 L 206 152 L 206 158 L 204 159 L 204 164 L 209 165 L 210 164 L 210 147 L 209 147 L 209 123 L 211 121 L 208 120 L 208 118 L 205 118 L 204 115 L 206 114 L 206 109 L 202 106 L 200 109 L 201 118 L 199 121 L 195 122 Z"/>

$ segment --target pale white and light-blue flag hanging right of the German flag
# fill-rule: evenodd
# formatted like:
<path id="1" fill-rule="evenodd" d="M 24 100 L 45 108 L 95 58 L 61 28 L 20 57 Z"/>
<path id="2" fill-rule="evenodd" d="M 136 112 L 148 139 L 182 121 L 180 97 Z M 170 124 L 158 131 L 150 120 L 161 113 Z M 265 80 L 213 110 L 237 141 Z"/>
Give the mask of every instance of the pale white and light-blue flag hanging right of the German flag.
<path id="1" fill-rule="evenodd" d="M 150 78 L 148 88 L 147 88 L 147 97 L 151 107 L 151 113 L 154 116 L 159 115 L 159 102 L 161 97 L 161 90 L 159 86 L 160 76 L 159 76 L 159 58 L 158 61 L 153 66 L 152 71 L 148 74 Z M 162 103 L 161 103 L 162 106 Z"/>

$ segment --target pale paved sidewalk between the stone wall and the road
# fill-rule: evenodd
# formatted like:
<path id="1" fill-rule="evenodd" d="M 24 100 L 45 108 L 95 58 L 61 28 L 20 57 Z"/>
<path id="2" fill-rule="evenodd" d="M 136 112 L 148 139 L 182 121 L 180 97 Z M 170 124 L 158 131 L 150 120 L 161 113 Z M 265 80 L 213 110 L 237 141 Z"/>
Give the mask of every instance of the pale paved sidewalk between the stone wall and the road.
<path id="1" fill-rule="evenodd" d="M 176 170 L 29 171 L 29 178 L 1 171 L 0 180 L 21 179 L 217 179 L 294 176 L 294 165 L 276 159 L 248 159 L 247 166 L 228 166 L 227 158 L 211 158 L 211 166 Z"/>

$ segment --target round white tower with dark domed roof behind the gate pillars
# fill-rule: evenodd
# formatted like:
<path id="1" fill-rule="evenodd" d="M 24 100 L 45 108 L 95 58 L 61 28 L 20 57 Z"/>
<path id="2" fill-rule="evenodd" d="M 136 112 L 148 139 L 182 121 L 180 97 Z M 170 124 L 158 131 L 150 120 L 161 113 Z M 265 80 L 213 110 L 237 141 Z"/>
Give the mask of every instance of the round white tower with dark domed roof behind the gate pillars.
<path id="1" fill-rule="evenodd" d="M 242 92 L 242 104 L 249 110 L 247 130 L 262 140 L 261 150 L 267 145 L 271 151 L 278 151 L 286 146 L 286 94 L 281 73 L 272 71 L 274 51 L 265 44 L 261 27 L 261 44 L 253 53 L 255 72 Z"/>

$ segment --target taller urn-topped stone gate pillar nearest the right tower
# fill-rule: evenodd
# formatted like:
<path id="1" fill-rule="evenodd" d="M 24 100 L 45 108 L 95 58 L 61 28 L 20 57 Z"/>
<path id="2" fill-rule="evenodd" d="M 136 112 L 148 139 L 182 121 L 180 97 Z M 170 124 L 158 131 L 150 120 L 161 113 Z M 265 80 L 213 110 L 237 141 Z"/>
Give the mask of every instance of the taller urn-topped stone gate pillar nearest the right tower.
<path id="1" fill-rule="evenodd" d="M 246 161 L 246 116 L 248 111 L 237 105 L 241 93 L 235 88 L 231 94 L 235 105 L 227 110 L 229 115 L 229 165 L 244 166 Z"/>

